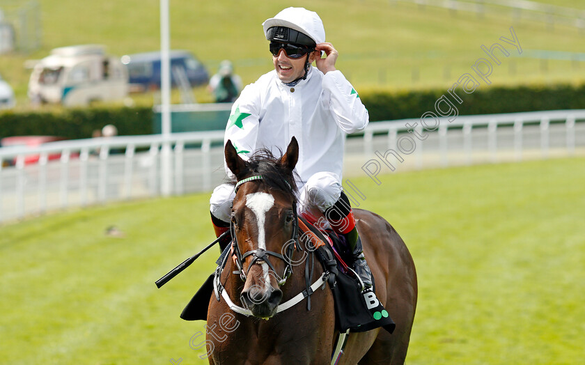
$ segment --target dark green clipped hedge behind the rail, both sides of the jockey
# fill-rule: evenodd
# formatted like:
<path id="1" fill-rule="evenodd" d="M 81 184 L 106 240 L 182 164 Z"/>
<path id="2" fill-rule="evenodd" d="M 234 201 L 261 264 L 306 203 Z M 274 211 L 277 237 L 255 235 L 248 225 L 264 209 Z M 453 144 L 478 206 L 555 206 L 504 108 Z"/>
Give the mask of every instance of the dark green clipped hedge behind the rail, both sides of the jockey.
<path id="1" fill-rule="evenodd" d="M 513 113 L 556 109 L 585 109 L 585 84 L 547 86 L 482 86 L 473 93 L 456 92 L 462 104 L 444 90 L 360 91 L 370 121 L 420 118 L 435 110 L 442 95 L 458 107 L 459 115 Z M 152 134 L 150 107 L 93 107 L 60 111 L 0 112 L 0 138 L 22 135 L 52 135 L 68 139 L 91 137 L 93 130 L 114 124 L 120 135 Z"/>

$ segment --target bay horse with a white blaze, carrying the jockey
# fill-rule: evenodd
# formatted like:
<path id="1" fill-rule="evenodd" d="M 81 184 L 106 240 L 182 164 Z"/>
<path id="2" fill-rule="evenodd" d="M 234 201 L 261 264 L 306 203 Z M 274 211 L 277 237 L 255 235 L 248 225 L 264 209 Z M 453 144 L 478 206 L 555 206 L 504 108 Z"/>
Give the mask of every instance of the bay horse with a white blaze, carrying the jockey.
<path id="1" fill-rule="evenodd" d="M 231 141 L 224 152 L 237 178 L 233 245 L 209 302 L 208 360 L 230 365 L 330 364 L 338 333 L 331 289 L 327 284 L 316 288 L 309 297 L 310 310 L 307 298 L 290 306 L 307 288 L 304 265 L 311 259 L 310 250 L 296 247 L 290 256 L 279 254 L 298 233 L 293 174 L 298 143 L 293 137 L 279 159 L 265 150 L 246 162 Z M 350 333 L 338 364 L 403 364 L 418 293 L 414 262 L 400 235 L 382 217 L 361 209 L 354 209 L 354 216 L 376 296 L 396 329 L 392 334 L 381 328 Z M 314 270 L 313 278 L 324 272 L 318 264 Z"/>

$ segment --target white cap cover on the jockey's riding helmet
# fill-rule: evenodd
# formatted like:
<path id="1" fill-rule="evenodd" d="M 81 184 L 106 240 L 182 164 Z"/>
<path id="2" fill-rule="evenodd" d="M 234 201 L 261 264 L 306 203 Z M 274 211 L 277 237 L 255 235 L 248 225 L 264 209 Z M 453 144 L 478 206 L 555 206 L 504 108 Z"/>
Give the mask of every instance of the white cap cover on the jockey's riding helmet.
<path id="1" fill-rule="evenodd" d="M 276 14 L 275 17 L 265 20 L 262 26 L 267 40 L 270 40 L 268 29 L 273 26 L 285 26 L 304 33 L 314 40 L 316 44 L 325 42 L 325 28 L 321 18 L 314 11 L 306 10 L 305 8 L 286 8 Z"/>

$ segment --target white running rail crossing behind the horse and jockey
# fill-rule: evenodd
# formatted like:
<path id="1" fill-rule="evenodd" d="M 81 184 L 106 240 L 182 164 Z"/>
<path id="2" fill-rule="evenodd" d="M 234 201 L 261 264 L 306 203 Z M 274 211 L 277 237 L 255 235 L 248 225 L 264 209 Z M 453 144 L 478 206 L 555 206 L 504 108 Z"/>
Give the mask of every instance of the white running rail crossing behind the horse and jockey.
<path id="1" fill-rule="evenodd" d="M 416 148 L 398 148 L 403 139 Z M 224 180 L 224 131 L 174 133 L 169 141 L 172 194 L 210 192 Z M 0 148 L 0 224 L 61 208 L 159 196 L 162 142 L 153 134 Z M 347 139 L 344 175 L 366 176 L 364 166 L 389 150 L 403 161 L 392 160 L 394 170 L 381 163 L 382 173 L 580 155 L 585 110 L 458 116 L 451 123 L 441 118 L 433 131 L 424 130 L 419 118 L 370 123 Z"/>

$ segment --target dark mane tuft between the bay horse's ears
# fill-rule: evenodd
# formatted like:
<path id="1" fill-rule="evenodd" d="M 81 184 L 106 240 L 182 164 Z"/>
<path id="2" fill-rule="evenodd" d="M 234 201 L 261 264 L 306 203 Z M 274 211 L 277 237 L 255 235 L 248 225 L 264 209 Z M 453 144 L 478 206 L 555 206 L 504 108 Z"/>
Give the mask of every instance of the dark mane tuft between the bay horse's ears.
<path id="1" fill-rule="evenodd" d="M 279 148 L 280 155 L 282 150 Z M 296 171 L 283 169 L 276 162 L 279 160 L 267 148 L 256 150 L 246 162 L 248 169 L 253 171 L 252 175 L 261 175 L 263 183 L 270 189 L 292 196 L 297 201 L 297 184 L 295 183 Z M 235 184 L 235 182 L 233 182 Z"/>

